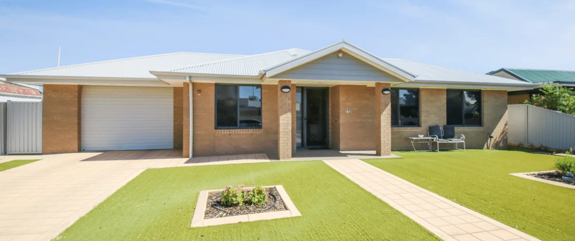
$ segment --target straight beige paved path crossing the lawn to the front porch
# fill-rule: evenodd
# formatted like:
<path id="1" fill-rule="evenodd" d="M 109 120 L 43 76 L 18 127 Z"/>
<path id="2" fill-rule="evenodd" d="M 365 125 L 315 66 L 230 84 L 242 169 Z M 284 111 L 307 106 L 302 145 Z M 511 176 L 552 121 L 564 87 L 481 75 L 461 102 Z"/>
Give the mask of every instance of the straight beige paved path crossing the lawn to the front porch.
<path id="1" fill-rule="evenodd" d="M 324 162 L 443 240 L 539 240 L 361 160 Z"/>

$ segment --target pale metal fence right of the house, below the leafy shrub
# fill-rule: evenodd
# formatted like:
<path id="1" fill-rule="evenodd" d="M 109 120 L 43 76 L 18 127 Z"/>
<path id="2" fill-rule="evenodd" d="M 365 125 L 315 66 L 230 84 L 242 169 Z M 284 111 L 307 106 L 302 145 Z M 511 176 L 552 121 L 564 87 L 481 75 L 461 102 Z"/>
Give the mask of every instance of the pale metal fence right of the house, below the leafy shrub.
<path id="1" fill-rule="evenodd" d="M 575 116 L 529 104 L 510 104 L 508 111 L 509 143 L 558 150 L 575 148 Z"/>

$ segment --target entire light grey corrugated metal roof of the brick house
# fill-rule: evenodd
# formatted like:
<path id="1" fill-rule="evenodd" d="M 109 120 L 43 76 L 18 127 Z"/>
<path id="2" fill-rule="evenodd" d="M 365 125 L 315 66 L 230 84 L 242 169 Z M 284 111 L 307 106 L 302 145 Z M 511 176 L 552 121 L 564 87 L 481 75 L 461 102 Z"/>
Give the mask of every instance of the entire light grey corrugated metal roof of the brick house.
<path id="1" fill-rule="evenodd" d="M 338 42 L 334 45 L 329 45 L 326 48 L 310 52 L 304 49 L 286 49 L 269 53 L 261 53 L 258 55 L 226 55 L 214 53 L 193 53 L 193 52 L 178 52 L 167 53 L 163 55 L 151 55 L 143 57 L 133 57 L 129 59 L 118 59 L 109 61 L 100 61 L 86 64 L 68 65 L 63 67 L 39 69 L 35 71 L 26 71 L 14 73 L 13 75 L 24 76 L 75 76 L 75 77 L 119 77 L 119 78 L 150 78 L 157 79 L 152 72 L 171 72 L 178 75 L 193 74 L 197 75 L 227 75 L 239 77 L 259 77 L 260 71 L 272 67 L 282 66 L 284 64 L 298 63 L 304 61 L 309 55 L 314 53 L 323 54 L 322 50 L 332 49 L 329 47 L 346 45 L 347 48 L 359 49 L 345 41 Z M 348 46 L 349 45 L 349 46 Z M 334 47 L 334 48 L 335 48 Z M 361 50 L 361 49 L 359 49 Z M 358 51 L 359 51 L 358 50 Z M 327 50 L 326 50 L 327 51 Z M 356 52 L 358 52 L 356 51 Z M 321 52 L 321 53 L 320 53 Z M 324 51 L 325 52 L 325 51 Z M 459 69 L 440 67 L 436 65 L 417 63 L 414 61 L 401 60 L 401 59 L 381 59 L 365 50 L 359 51 L 365 53 L 363 57 L 369 57 L 372 61 L 379 61 L 382 66 L 385 65 L 396 73 L 408 73 L 409 81 L 416 84 L 419 83 L 450 83 L 456 82 L 459 84 L 480 84 L 480 85 L 515 85 L 525 88 L 531 88 L 532 84 L 525 83 L 524 81 L 517 81 L 505 79 L 503 77 L 496 77 L 484 75 L 482 73 L 474 73 L 469 71 L 462 71 Z M 308 57 L 306 57 L 308 56 Z M 308 58 L 309 59 L 309 58 Z M 306 60 L 307 61 L 307 60 Z M 312 60 L 310 60 L 312 61 Z M 305 62 L 305 61 L 304 61 Z M 294 65 L 297 67 L 298 65 Z M 286 68 L 292 68 L 291 65 Z M 9 75 L 4 75 L 9 76 Z M 17 77 L 10 76 L 13 79 Z M 15 80 L 13 80 L 15 81 Z M 36 82 L 34 82 L 36 83 Z M 403 85 L 403 84 L 402 84 Z"/>

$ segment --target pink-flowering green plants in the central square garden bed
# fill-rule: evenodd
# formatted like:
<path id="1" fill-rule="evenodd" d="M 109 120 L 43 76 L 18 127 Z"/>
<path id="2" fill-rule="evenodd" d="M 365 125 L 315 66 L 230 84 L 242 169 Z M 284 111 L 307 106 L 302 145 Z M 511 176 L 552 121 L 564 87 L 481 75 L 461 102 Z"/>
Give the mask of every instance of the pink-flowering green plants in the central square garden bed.
<path id="1" fill-rule="evenodd" d="M 221 203 L 228 206 L 263 205 L 267 195 L 269 193 L 262 186 L 244 188 L 244 185 L 238 185 L 233 188 L 229 185 L 221 192 Z"/>

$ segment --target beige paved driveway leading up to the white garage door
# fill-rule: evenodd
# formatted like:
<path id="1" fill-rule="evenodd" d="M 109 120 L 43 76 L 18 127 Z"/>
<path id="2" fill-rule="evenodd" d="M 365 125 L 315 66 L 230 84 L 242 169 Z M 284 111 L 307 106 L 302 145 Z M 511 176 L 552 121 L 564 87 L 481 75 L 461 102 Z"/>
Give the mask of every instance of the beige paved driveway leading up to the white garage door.
<path id="1" fill-rule="evenodd" d="M 43 160 L 0 172 L 0 241 L 53 239 L 148 168 L 269 161 L 258 156 L 202 163 L 205 158 L 189 160 L 170 151 L 25 156 Z M 0 162 L 16 159 L 22 157 L 3 156 Z"/>

